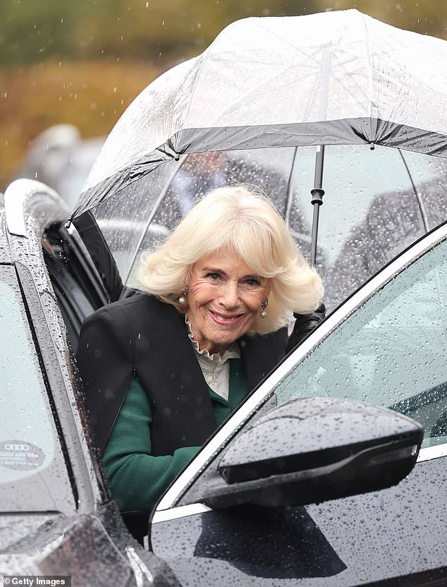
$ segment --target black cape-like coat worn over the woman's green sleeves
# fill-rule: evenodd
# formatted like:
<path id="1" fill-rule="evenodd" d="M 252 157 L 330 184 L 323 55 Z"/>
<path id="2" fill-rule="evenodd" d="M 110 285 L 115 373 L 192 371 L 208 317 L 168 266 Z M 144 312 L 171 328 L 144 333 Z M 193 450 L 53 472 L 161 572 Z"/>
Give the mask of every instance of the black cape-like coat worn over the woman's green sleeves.
<path id="1" fill-rule="evenodd" d="M 283 328 L 245 336 L 238 344 L 251 391 L 285 356 L 287 332 Z M 135 373 L 151 403 L 154 456 L 200 446 L 216 428 L 185 319 L 153 296 L 136 294 L 87 317 L 80 332 L 78 367 L 101 452 Z"/>

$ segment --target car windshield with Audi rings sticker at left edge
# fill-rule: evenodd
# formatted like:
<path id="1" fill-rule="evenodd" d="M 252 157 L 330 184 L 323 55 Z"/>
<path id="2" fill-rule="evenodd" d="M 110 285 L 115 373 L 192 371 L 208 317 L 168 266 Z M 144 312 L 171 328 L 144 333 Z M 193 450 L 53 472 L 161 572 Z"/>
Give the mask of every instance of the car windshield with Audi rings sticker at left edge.
<path id="1" fill-rule="evenodd" d="M 0 510 L 73 510 L 16 271 L 7 265 L 0 265 L 0 323 Z"/>

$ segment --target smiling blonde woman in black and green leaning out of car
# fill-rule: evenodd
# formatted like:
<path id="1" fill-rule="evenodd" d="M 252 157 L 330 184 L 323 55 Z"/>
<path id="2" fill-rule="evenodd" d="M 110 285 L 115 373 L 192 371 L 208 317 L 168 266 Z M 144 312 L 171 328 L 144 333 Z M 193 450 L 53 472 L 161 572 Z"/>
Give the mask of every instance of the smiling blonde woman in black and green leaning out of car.
<path id="1" fill-rule="evenodd" d="M 200 200 L 146 255 L 140 282 L 145 293 L 85 320 L 78 364 L 116 502 L 150 512 L 319 320 L 322 284 L 271 202 L 243 187 Z"/>

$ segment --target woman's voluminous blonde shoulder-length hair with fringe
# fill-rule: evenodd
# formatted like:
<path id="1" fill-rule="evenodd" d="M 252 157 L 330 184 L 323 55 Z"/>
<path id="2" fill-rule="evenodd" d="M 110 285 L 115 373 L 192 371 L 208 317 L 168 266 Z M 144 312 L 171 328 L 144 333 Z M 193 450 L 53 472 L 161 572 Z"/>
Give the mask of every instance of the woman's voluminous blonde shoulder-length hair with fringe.
<path id="1" fill-rule="evenodd" d="M 259 277 L 269 279 L 267 316 L 255 318 L 251 334 L 281 328 L 288 323 L 288 312 L 317 309 L 323 295 L 319 275 L 271 201 L 245 186 L 218 188 L 197 202 L 157 250 L 142 256 L 140 283 L 181 312 L 178 298 L 192 265 L 223 249 L 234 251 Z"/>

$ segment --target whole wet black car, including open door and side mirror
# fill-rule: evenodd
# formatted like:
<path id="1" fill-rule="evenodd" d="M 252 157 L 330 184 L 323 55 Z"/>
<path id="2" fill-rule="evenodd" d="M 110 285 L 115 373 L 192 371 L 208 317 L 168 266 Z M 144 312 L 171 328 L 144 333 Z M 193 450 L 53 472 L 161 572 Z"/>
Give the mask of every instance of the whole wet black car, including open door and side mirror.
<path id="1" fill-rule="evenodd" d="M 133 291 L 91 217 L 78 222 L 82 241 L 42 184 L 17 181 L 5 200 L 1 285 L 16 310 L 11 292 L 1 296 L 2 363 L 14 367 L 2 384 L 19 381 L 20 393 L 2 396 L 4 418 L 19 422 L 4 437 L 19 468 L 0 463 L 4 574 L 80 585 L 447 581 L 446 227 L 387 265 L 247 398 L 161 498 L 142 549 L 95 459 L 72 353 L 82 317 Z M 25 445 L 38 471 L 20 465 Z"/>

